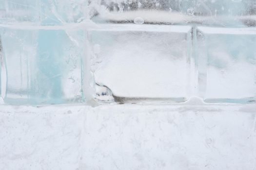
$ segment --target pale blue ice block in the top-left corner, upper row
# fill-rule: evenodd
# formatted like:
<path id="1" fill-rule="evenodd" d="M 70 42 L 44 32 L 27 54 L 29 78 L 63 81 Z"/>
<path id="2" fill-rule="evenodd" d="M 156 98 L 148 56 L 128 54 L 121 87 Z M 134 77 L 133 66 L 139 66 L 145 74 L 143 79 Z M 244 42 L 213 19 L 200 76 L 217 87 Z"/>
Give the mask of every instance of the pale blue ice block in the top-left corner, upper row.
<path id="1" fill-rule="evenodd" d="M 0 0 L 0 23 L 59 25 L 86 18 L 87 0 Z"/>

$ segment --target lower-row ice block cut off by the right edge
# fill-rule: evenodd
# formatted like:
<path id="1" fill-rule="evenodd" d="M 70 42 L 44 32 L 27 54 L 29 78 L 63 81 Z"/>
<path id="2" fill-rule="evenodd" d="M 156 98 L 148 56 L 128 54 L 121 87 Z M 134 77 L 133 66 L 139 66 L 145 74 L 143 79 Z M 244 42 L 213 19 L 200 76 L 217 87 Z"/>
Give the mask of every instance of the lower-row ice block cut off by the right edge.
<path id="1" fill-rule="evenodd" d="M 198 27 L 197 55 L 205 102 L 255 102 L 256 28 Z"/>

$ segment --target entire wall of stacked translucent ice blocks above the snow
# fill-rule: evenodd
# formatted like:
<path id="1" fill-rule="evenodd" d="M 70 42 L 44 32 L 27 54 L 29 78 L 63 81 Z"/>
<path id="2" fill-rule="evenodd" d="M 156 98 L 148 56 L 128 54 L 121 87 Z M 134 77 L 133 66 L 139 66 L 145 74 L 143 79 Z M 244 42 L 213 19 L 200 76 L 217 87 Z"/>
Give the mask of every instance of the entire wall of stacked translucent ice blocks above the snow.
<path id="1" fill-rule="evenodd" d="M 255 0 L 1 0 L 9 104 L 256 99 Z"/>

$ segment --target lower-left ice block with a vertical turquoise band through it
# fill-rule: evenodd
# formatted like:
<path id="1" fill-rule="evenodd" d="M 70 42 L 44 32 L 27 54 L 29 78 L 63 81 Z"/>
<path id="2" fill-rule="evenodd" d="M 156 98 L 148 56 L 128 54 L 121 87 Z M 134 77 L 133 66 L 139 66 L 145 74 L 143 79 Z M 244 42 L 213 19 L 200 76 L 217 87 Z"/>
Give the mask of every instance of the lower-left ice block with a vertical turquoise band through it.
<path id="1" fill-rule="evenodd" d="M 83 101 L 84 31 L 59 27 L 1 27 L 8 104 L 60 104 Z M 2 78 L 3 80 L 3 78 Z"/>

